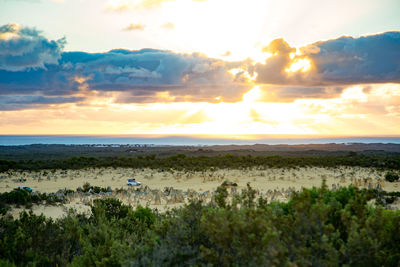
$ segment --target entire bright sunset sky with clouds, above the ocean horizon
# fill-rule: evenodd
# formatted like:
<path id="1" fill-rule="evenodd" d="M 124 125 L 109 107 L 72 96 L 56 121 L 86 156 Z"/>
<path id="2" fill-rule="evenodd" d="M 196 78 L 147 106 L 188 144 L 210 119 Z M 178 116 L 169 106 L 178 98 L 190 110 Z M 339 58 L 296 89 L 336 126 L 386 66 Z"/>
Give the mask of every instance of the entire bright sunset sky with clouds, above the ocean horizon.
<path id="1" fill-rule="evenodd" d="M 400 136 L 398 0 L 0 0 L 0 134 Z"/>

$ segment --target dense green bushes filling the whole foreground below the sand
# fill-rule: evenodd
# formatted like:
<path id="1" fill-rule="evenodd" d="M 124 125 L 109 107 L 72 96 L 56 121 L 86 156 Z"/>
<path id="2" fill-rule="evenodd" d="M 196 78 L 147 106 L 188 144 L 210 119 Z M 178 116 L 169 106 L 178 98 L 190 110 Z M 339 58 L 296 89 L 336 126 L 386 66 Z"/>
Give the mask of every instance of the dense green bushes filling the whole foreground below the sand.
<path id="1" fill-rule="evenodd" d="M 98 200 L 90 217 L 0 218 L 0 264 L 18 266 L 398 266 L 400 212 L 368 204 L 374 190 L 326 186 L 288 203 L 192 202 L 165 213 Z"/>

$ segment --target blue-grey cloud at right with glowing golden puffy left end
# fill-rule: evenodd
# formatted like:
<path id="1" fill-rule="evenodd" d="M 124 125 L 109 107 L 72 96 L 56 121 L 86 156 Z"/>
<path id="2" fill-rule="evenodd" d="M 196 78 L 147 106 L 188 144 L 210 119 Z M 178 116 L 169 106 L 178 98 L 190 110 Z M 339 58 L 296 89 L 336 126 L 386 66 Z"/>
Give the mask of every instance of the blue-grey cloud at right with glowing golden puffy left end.
<path id="1" fill-rule="evenodd" d="M 258 83 L 324 86 L 400 82 L 400 32 L 316 42 L 302 47 L 297 55 L 295 48 L 276 39 L 263 51 L 271 57 L 249 68 L 251 73 L 257 72 Z M 309 63 L 309 71 L 301 65 L 288 71 L 302 62 Z"/>

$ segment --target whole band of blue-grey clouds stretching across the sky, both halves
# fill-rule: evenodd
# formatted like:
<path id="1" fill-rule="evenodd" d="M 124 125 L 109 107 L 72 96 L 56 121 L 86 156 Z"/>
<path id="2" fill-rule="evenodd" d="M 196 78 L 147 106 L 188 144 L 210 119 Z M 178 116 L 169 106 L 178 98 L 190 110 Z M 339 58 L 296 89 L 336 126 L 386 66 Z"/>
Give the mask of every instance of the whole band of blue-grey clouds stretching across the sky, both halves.
<path id="1" fill-rule="evenodd" d="M 276 39 L 263 48 L 270 57 L 261 64 L 157 49 L 63 52 L 64 38 L 10 23 L 0 27 L 0 109 L 25 108 L 25 99 L 84 105 L 100 96 L 120 104 L 236 102 L 254 86 L 248 74 L 255 73 L 262 102 L 337 98 L 351 84 L 368 94 L 370 83 L 400 81 L 399 40 L 400 32 L 388 32 L 297 50 Z"/>

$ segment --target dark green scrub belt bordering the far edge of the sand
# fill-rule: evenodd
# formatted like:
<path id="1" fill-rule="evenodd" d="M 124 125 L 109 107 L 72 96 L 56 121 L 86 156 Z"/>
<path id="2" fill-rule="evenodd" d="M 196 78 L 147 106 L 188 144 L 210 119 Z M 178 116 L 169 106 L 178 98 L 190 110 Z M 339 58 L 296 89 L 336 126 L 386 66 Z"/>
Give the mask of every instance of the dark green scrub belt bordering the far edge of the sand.
<path id="1" fill-rule="evenodd" d="M 360 166 L 400 170 L 400 155 L 363 155 L 349 153 L 347 156 L 186 156 L 178 154 L 170 157 L 73 157 L 57 160 L 1 160 L 0 172 L 7 170 L 40 170 L 40 169 L 82 169 L 90 167 L 130 167 L 153 169 L 186 169 L 201 171 L 209 168 L 249 168 L 266 167 L 336 167 Z"/>

